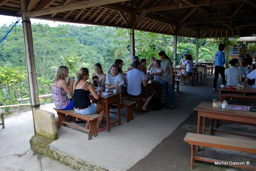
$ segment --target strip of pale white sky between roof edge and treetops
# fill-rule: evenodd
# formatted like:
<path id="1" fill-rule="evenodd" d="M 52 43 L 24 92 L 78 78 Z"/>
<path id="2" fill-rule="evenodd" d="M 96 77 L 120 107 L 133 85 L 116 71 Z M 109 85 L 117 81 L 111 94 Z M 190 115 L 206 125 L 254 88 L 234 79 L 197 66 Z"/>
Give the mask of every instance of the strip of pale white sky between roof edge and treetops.
<path id="1" fill-rule="evenodd" d="M 0 27 L 6 24 L 6 26 L 9 26 L 9 24 L 14 24 L 18 20 L 18 17 L 11 17 L 11 16 L 4 16 L 0 15 Z M 39 20 L 39 19 L 30 19 L 31 23 L 42 23 L 42 24 L 48 24 L 51 27 L 57 27 L 59 24 L 65 25 L 74 25 L 74 26 L 85 26 L 86 24 L 75 24 L 75 23 L 65 23 L 65 22 L 57 22 L 57 21 L 48 21 L 48 20 Z M 19 21 L 21 23 L 21 20 Z"/>

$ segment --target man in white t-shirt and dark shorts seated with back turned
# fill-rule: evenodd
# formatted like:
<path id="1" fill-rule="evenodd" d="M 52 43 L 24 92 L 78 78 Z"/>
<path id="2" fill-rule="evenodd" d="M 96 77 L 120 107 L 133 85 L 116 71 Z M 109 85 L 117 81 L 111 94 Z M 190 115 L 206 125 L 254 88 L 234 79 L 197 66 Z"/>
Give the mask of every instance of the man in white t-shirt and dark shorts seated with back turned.
<path id="1" fill-rule="evenodd" d="M 132 62 L 132 66 L 133 70 L 127 72 L 126 76 L 128 84 L 128 95 L 132 97 L 145 97 L 146 101 L 142 106 L 142 113 L 149 112 L 146 106 L 152 99 L 154 95 L 154 90 L 150 88 L 142 88 L 141 84 L 146 87 L 148 83 L 146 82 L 145 73 L 143 71 L 140 71 L 140 62 L 138 60 L 135 60 Z"/>

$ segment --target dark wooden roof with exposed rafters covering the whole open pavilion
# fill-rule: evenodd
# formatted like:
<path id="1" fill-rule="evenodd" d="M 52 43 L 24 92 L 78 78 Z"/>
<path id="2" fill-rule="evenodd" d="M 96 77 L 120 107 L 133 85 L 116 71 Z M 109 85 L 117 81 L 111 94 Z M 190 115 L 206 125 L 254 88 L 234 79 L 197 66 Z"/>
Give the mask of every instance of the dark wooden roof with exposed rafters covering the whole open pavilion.
<path id="1" fill-rule="evenodd" d="M 25 15 L 45 20 L 134 28 L 194 38 L 256 34 L 255 0 L 23 0 Z M 21 14 L 0 0 L 0 14 Z"/>

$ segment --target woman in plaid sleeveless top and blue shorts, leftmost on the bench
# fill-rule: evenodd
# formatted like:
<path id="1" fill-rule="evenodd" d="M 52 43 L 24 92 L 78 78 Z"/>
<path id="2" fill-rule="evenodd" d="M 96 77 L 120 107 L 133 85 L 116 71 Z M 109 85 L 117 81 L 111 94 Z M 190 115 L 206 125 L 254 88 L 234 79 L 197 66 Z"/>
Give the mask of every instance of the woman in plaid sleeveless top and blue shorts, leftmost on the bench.
<path id="1" fill-rule="evenodd" d="M 58 67 L 57 73 L 53 79 L 52 96 L 56 109 L 74 109 L 73 101 L 72 99 L 69 99 L 67 95 L 73 94 L 74 77 L 70 77 L 68 79 L 68 83 L 66 83 L 65 79 L 68 77 L 68 75 L 69 68 L 67 66 L 61 65 Z M 68 84 L 70 84 L 70 87 Z"/>

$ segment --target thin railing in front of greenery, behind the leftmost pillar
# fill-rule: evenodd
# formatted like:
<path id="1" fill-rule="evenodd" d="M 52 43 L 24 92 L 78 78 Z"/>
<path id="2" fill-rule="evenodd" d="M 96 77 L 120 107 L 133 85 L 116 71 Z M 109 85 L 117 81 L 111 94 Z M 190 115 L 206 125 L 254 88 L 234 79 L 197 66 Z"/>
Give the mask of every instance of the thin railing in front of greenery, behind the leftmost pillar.
<path id="1" fill-rule="evenodd" d="M 40 98 L 40 104 L 52 103 L 52 86 L 38 87 L 38 94 Z M 0 87 L 0 106 L 13 105 L 9 110 L 13 112 L 15 109 L 24 109 L 25 106 L 20 104 L 29 104 L 29 90 L 28 83 L 14 84 L 9 86 Z M 20 105 L 20 106 L 18 106 Z M 5 109 L 7 112 L 8 109 Z"/>

